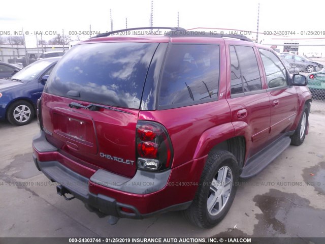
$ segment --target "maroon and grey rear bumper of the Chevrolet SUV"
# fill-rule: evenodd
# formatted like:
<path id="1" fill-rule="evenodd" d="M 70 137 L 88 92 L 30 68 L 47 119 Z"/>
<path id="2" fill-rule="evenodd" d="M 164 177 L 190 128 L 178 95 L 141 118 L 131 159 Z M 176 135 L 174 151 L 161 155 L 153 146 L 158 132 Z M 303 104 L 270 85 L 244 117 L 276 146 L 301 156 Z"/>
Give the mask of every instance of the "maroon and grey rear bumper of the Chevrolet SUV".
<path id="1" fill-rule="evenodd" d="M 36 167 L 49 179 L 107 215 L 132 219 L 186 209 L 206 160 L 192 160 L 161 173 L 137 170 L 133 178 L 127 178 L 67 158 L 46 140 L 43 131 L 33 139 L 32 146 Z"/>

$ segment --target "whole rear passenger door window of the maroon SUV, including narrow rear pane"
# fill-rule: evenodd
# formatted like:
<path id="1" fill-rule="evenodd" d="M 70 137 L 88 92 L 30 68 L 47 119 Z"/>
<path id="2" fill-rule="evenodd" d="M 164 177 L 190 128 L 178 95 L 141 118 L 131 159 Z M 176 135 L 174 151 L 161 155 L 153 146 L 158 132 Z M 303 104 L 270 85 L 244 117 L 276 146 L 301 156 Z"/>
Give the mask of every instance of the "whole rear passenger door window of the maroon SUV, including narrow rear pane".
<path id="1" fill-rule="evenodd" d="M 257 60 L 252 47 L 231 46 L 231 64 L 233 94 L 262 89 Z"/>

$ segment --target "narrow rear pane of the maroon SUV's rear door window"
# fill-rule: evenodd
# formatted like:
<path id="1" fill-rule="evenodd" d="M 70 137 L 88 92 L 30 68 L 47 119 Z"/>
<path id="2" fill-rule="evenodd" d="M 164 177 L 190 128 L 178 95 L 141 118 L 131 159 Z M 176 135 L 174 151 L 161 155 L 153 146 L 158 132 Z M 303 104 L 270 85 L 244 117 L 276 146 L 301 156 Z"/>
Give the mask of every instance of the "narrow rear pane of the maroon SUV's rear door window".
<path id="1" fill-rule="evenodd" d="M 230 61 L 231 61 L 231 93 L 243 93 L 243 83 L 239 68 L 239 62 L 234 46 L 230 46 Z"/>

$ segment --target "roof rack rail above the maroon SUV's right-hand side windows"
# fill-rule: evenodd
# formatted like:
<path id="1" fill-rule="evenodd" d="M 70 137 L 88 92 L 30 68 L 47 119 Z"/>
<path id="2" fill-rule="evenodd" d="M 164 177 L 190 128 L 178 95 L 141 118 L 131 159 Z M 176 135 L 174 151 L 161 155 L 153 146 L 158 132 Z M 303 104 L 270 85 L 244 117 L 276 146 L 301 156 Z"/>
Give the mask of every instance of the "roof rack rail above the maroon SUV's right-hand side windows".
<path id="1" fill-rule="evenodd" d="M 220 34 L 220 33 L 207 33 L 207 32 L 200 32 L 200 31 L 179 31 L 179 32 L 170 32 L 169 34 L 166 34 L 165 36 L 168 37 L 215 37 L 215 38 L 223 38 L 223 37 L 228 37 L 228 38 L 235 38 L 235 39 L 240 39 L 242 41 L 248 41 L 248 42 L 253 42 L 251 39 L 244 35 L 229 35 L 229 34 Z"/>

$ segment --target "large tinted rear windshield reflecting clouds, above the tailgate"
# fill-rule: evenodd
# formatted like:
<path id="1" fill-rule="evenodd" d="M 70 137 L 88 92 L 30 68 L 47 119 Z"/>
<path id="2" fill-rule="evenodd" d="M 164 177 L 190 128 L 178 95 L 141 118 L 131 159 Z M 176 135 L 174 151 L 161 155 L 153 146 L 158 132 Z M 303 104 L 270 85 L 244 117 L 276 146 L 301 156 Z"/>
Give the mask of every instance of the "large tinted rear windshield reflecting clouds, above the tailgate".
<path id="1" fill-rule="evenodd" d="M 157 43 L 75 45 L 54 68 L 46 93 L 124 108 L 140 108 L 146 74 Z M 77 91 L 80 97 L 67 95 Z"/>

